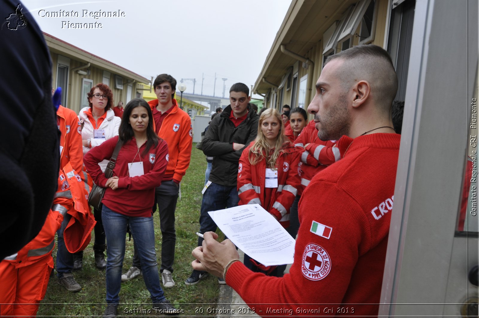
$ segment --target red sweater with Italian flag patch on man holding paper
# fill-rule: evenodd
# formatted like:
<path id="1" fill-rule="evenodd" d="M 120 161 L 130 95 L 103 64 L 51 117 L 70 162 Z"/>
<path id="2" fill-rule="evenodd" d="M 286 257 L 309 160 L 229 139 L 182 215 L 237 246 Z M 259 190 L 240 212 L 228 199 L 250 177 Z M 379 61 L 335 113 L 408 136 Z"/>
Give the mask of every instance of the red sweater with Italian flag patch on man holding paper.
<path id="1" fill-rule="evenodd" d="M 299 202 L 301 225 L 288 274 L 268 277 L 251 272 L 241 262 L 229 267 L 227 284 L 256 313 L 285 315 L 272 311 L 283 308 L 292 309 L 294 315 L 333 316 L 343 307 L 344 315 L 377 315 L 378 305 L 348 304 L 379 303 L 399 138 L 381 133 L 341 138 L 338 147 L 343 158 L 319 172 Z M 321 225 L 326 226 L 323 236 L 317 234 Z M 325 307 L 334 311 L 324 313 Z M 303 311 L 297 312 L 298 308 Z M 304 311 L 318 308 L 320 313 Z"/>

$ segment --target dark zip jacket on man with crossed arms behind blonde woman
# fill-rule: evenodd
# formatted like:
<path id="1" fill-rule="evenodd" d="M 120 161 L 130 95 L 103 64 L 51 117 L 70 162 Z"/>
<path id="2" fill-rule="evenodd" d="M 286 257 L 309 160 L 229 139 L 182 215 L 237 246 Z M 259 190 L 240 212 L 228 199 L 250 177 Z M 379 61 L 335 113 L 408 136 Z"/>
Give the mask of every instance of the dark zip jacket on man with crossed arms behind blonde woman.
<path id="1" fill-rule="evenodd" d="M 235 127 L 229 114 L 231 105 L 213 118 L 203 139 L 203 152 L 208 157 L 215 157 L 209 180 L 224 186 L 236 186 L 239 157 L 251 141 L 256 139 L 259 116 L 248 104 L 248 116 Z M 235 151 L 234 142 L 245 146 Z"/>

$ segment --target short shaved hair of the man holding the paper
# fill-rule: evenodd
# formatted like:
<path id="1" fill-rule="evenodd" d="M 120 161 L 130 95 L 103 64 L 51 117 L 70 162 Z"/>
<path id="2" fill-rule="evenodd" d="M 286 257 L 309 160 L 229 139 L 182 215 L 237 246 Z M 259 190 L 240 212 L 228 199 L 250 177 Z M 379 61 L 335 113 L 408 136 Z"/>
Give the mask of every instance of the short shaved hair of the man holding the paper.
<path id="1" fill-rule="evenodd" d="M 384 111 L 390 111 L 389 107 L 398 91 L 398 76 L 385 49 L 373 44 L 356 45 L 331 55 L 324 65 L 335 59 L 344 61 L 344 65 L 338 70 L 338 77 L 345 89 L 349 88 L 354 79 L 362 80 L 360 77 L 364 77 L 374 89 L 376 102 L 383 105 Z"/>

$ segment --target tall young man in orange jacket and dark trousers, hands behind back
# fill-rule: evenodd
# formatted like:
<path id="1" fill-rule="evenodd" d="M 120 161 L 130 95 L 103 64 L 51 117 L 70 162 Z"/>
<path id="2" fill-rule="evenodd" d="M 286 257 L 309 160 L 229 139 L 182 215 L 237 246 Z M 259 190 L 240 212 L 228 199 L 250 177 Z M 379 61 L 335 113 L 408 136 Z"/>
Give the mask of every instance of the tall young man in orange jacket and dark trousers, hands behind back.
<path id="1" fill-rule="evenodd" d="M 173 261 L 175 257 L 175 210 L 180 191 L 180 182 L 190 165 L 193 129 L 190 116 L 178 107 L 174 99 L 176 79 L 169 74 L 160 74 L 153 82 L 156 100 L 148 102 L 153 112 L 153 129 L 168 145 L 168 166 L 161 185 L 156 188 L 161 228 L 161 281 L 165 288 L 175 285 Z M 155 160 L 150 158 L 150 160 Z M 133 266 L 122 275 L 122 281 L 129 281 L 141 273 L 141 264 L 135 245 Z"/>

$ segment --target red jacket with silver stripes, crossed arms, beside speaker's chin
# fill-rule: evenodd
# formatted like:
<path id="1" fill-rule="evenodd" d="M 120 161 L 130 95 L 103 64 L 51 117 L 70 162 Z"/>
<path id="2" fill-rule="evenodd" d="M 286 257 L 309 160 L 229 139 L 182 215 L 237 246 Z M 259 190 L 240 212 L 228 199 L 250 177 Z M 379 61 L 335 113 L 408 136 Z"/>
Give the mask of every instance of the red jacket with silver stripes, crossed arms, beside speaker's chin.
<path id="1" fill-rule="evenodd" d="M 299 195 L 319 171 L 340 159 L 339 149 L 335 147 L 336 141 L 319 139 L 315 124 L 314 120 L 311 120 L 295 140 L 296 147 L 305 149 L 301 154 L 298 169 L 301 178 Z"/>

